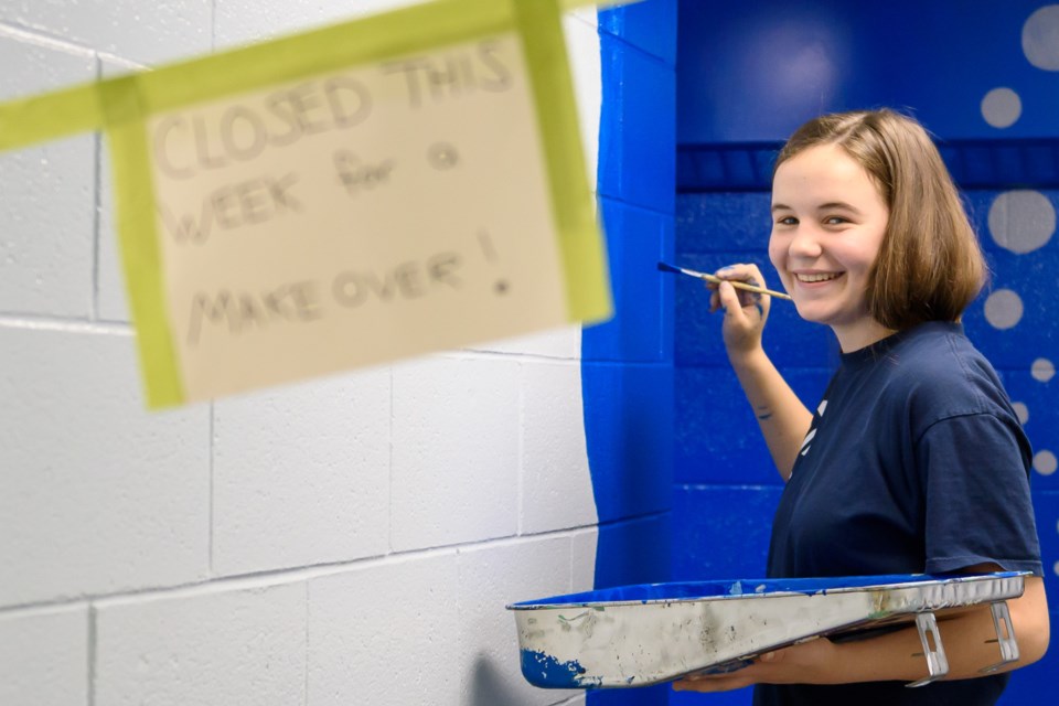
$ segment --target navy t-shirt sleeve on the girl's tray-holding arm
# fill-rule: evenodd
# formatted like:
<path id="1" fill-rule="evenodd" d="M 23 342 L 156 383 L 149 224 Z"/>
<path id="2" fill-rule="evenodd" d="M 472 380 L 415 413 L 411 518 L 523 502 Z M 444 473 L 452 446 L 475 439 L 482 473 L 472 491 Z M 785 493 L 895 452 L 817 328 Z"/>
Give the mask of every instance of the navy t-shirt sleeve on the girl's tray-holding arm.
<path id="1" fill-rule="evenodd" d="M 995 563 L 1042 576 L 1021 431 L 993 414 L 933 424 L 919 439 L 931 574 Z"/>

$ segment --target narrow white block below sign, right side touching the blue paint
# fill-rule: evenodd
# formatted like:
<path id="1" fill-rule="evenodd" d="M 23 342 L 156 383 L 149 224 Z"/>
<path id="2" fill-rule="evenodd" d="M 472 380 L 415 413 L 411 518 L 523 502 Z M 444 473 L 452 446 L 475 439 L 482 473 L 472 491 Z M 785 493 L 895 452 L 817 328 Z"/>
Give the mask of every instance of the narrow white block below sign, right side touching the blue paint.
<path id="1" fill-rule="evenodd" d="M 597 522 L 577 361 L 523 370 L 522 534 Z"/>

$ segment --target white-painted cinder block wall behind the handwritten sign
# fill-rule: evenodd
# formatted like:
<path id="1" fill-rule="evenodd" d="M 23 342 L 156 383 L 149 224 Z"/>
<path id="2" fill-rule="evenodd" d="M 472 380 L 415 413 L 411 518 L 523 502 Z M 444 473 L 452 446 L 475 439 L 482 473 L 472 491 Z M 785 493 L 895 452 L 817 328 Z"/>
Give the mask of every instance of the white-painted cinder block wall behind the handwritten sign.
<path id="1" fill-rule="evenodd" d="M 0 0 L 0 99 L 408 2 Z M 503 610 L 592 584 L 579 330 L 148 414 L 108 179 L 0 154 L 0 704 L 584 703 Z"/>

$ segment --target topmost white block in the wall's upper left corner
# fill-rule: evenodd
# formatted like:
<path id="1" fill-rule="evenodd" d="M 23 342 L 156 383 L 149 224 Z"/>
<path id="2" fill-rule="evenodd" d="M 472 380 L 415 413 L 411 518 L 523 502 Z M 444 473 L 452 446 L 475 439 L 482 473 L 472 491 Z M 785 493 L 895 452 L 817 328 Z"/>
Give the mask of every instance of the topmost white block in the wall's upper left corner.
<path id="1" fill-rule="evenodd" d="M 158 64 L 210 52 L 212 6 L 211 0 L 160 6 L 138 0 L 19 2 L 0 10 L 0 22 L 140 64 Z"/>

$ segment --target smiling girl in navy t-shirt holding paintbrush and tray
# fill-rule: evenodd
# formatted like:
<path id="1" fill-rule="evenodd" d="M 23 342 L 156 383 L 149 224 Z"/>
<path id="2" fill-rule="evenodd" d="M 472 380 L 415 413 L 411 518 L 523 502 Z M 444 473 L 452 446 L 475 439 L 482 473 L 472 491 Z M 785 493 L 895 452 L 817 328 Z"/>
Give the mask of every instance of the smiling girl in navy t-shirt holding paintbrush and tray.
<path id="1" fill-rule="evenodd" d="M 890 110 L 802 126 L 777 160 L 769 257 L 799 314 L 834 331 L 842 363 L 810 411 L 761 346 L 769 298 L 710 286 L 732 368 L 785 482 L 770 578 L 1030 571 L 1009 600 L 1020 657 L 1048 646 L 1048 607 L 1029 495 L 1031 451 L 961 314 L 985 265 L 923 128 Z M 753 265 L 724 280 L 764 278 Z M 752 297 L 752 298 L 751 298 Z M 824 639 L 675 688 L 755 688 L 756 706 L 995 704 L 1007 674 L 987 606 L 943 620 L 944 681 L 927 676 L 914 628 Z"/>

